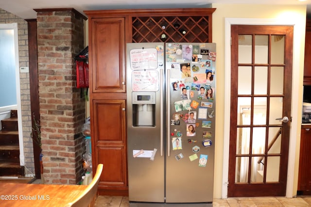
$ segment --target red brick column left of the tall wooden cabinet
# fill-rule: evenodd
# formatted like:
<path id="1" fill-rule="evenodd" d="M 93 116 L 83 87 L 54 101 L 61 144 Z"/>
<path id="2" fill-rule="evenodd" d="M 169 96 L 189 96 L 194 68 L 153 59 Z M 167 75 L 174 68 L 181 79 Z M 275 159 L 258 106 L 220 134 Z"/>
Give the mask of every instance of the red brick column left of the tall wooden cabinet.
<path id="1" fill-rule="evenodd" d="M 35 11 L 43 177 L 49 184 L 76 184 L 83 173 L 85 98 L 76 88 L 73 58 L 84 48 L 86 18 L 67 8 Z"/>

